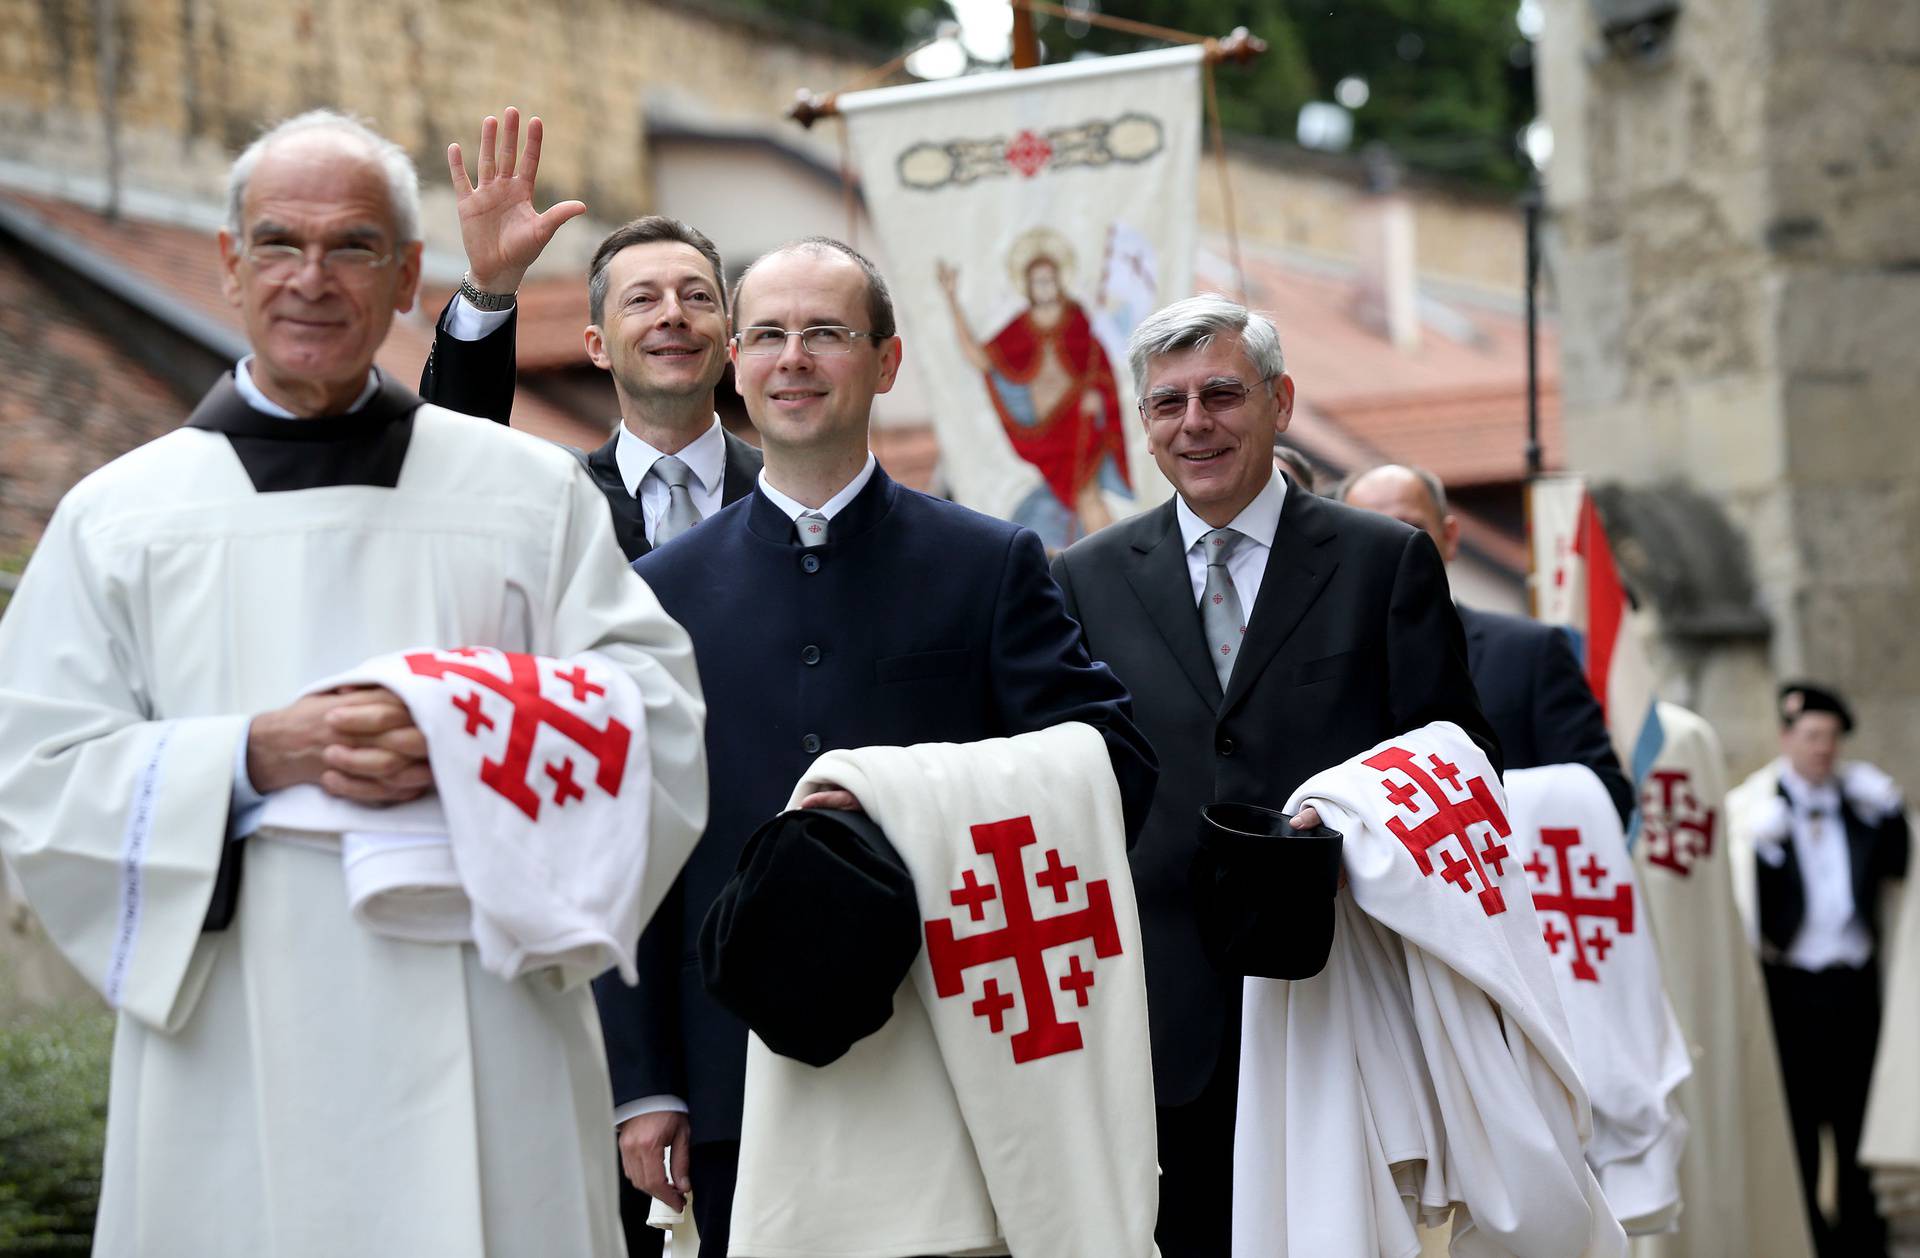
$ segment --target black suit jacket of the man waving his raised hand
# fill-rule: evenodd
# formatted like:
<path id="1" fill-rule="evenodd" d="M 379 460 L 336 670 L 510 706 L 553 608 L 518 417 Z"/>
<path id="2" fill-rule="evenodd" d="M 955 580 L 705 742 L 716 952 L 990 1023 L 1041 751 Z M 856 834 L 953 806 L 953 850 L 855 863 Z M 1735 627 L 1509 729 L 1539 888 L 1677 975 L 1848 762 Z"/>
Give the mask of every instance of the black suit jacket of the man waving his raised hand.
<path id="1" fill-rule="evenodd" d="M 426 355 L 426 369 L 420 371 L 420 396 L 449 411 L 503 424 L 513 415 L 515 330 L 520 311 L 511 311 L 501 327 L 480 340 L 459 340 L 447 334 L 451 309 L 453 302 L 447 302 L 447 307 L 440 311 L 434 350 Z M 753 484 L 760 476 L 762 457 L 758 449 L 732 432 L 722 430 L 722 438 L 726 440 L 726 474 L 720 482 L 720 505 L 728 505 L 753 492 Z M 593 484 L 607 496 L 620 549 L 626 551 L 628 559 L 639 559 L 653 547 L 647 544 L 647 522 L 639 511 L 639 497 L 628 494 L 626 482 L 620 480 L 620 465 L 614 459 L 618 446 L 620 434 L 614 432 L 605 446 L 582 455 L 582 459 Z"/>

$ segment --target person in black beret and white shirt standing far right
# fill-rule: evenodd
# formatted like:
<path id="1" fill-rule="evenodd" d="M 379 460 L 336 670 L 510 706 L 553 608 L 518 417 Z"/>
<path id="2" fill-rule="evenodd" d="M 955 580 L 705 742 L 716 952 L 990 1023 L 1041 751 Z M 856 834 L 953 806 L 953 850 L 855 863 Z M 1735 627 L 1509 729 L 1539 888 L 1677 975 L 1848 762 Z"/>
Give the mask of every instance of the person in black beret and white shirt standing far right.
<path id="1" fill-rule="evenodd" d="M 1857 1160 L 1880 1039 L 1880 893 L 1907 876 L 1899 786 L 1841 761 L 1845 701 L 1818 686 L 1780 689 L 1780 759 L 1747 778 L 1728 810 L 1736 893 L 1757 931 L 1780 1045 L 1807 1218 L 1820 1258 L 1885 1252 L 1866 1170 Z M 1741 868 L 1751 860 L 1751 878 Z M 1820 1129 L 1832 1127 L 1837 1220 L 1820 1214 Z"/>

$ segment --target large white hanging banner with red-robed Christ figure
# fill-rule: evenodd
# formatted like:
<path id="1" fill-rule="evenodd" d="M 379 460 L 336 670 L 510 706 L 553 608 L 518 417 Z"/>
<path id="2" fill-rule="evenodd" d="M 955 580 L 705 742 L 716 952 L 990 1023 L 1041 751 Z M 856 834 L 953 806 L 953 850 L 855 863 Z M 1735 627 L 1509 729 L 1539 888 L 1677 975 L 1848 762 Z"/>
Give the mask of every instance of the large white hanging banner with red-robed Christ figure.
<path id="1" fill-rule="evenodd" d="M 1169 494 L 1125 346 L 1192 292 L 1200 56 L 839 100 L 947 486 L 1052 547 Z"/>

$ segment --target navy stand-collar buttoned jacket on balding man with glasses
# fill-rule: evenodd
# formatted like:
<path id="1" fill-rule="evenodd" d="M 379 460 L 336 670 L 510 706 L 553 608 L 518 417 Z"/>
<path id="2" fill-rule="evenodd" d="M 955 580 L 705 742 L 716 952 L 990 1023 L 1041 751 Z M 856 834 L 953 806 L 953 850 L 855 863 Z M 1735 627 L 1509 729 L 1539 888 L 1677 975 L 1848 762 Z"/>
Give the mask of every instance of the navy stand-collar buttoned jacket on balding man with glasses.
<path id="1" fill-rule="evenodd" d="M 1106 738 L 1129 835 L 1154 753 L 1087 655 L 1025 528 L 883 471 L 803 549 L 751 494 L 634 565 L 693 636 L 707 695 L 707 832 L 639 941 L 639 987 L 595 983 L 614 1102 L 672 1093 L 693 1139 L 739 1137 L 747 1028 L 708 999 L 699 928 L 747 837 L 835 747 L 975 741 L 1085 720 Z"/>

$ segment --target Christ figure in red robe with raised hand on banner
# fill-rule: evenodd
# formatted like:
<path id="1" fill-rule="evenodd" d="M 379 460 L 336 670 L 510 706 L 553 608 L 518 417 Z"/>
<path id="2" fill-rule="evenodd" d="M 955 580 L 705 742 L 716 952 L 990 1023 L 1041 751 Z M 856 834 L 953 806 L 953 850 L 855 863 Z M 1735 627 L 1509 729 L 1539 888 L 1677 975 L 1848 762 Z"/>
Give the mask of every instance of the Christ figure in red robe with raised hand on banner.
<path id="1" fill-rule="evenodd" d="M 1046 227 L 1023 232 L 1006 267 L 1027 303 L 987 342 L 973 336 L 960 309 L 960 273 L 941 261 L 937 275 L 960 351 L 987 382 L 1014 453 L 1044 476 L 1066 528 L 1021 522 L 1035 524 L 1050 545 L 1066 545 L 1114 520 L 1102 492 L 1133 496 L 1119 380 L 1087 309 L 1068 296 L 1068 240 Z"/>

